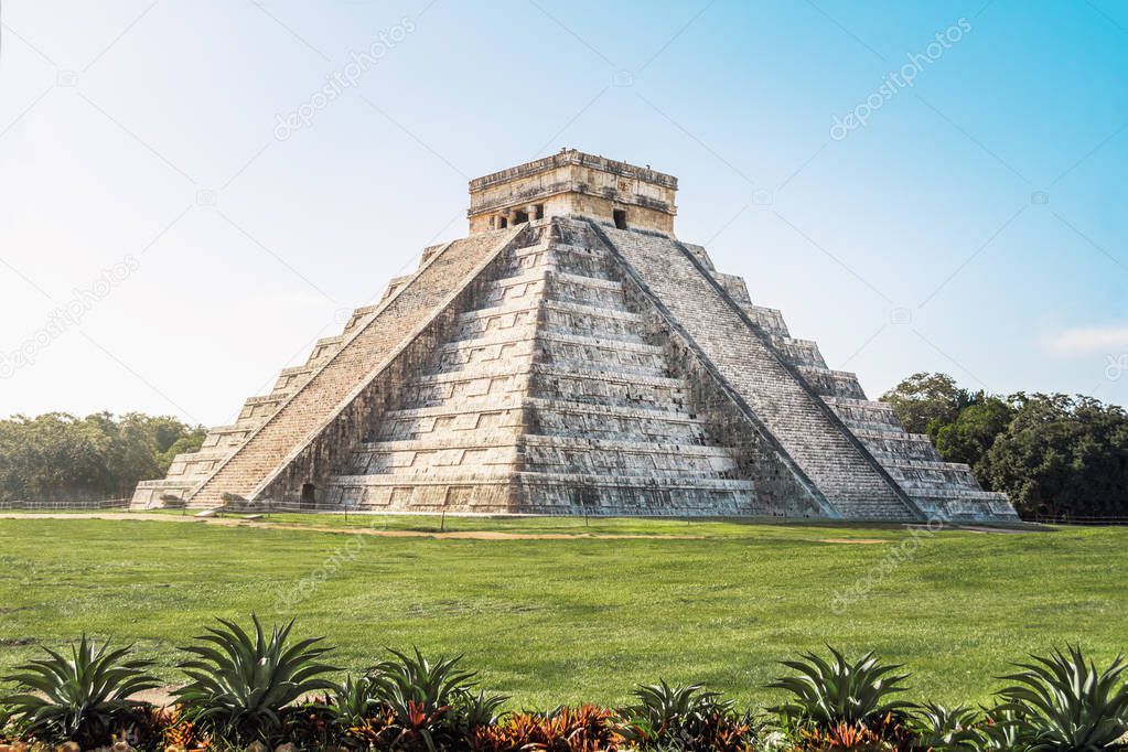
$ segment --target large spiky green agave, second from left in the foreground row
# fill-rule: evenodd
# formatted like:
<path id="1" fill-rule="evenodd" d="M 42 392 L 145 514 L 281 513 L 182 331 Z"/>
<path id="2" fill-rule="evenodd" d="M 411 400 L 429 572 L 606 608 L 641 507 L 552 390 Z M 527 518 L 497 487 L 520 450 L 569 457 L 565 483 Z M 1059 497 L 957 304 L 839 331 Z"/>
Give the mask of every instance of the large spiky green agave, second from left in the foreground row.
<path id="1" fill-rule="evenodd" d="M 293 620 L 274 626 L 267 637 L 258 618 L 254 637 L 233 621 L 219 619 L 197 637 L 206 645 L 183 648 L 197 656 L 180 664 L 191 681 L 174 692 L 190 720 L 236 738 L 270 740 L 282 726 L 280 711 L 303 695 L 332 690 L 325 679 L 335 667 L 320 662 L 328 648 L 321 637 L 290 642 Z"/>

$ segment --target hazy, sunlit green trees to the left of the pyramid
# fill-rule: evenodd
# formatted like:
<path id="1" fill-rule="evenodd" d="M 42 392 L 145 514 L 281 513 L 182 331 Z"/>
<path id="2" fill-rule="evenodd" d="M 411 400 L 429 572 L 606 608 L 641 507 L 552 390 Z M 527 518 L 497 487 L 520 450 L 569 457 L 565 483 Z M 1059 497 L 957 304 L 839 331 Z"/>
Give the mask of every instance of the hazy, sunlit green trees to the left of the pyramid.
<path id="1" fill-rule="evenodd" d="M 206 431 L 169 416 L 46 413 L 0 421 L 0 502 L 124 498 Z"/>

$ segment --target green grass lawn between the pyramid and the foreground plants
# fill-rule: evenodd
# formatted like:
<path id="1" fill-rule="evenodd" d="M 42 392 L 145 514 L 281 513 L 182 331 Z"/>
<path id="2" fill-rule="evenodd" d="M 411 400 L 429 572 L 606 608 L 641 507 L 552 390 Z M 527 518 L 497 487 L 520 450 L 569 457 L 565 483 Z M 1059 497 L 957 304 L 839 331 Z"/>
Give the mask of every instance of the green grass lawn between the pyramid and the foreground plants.
<path id="1" fill-rule="evenodd" d="M 175 681 L 178 645 L 213 616 L 250 611 L 296 614 L 297 632 L 326 635 L 351 670 L 385 645 L 465 653 L 527 707 L 620 701 L 660 676 L 767 702 L 775 662 L 825 642 L 908 663 L 916 699 L 986 701 L 1026 652 L 1128 648 L 1128 529 L 447 520 L 570 536 L 490 540 L 328 530 L 426 531 L 435 517 L 168 516 L 0 520 L 0 672 L 86 631 L 135 643 Z"/>

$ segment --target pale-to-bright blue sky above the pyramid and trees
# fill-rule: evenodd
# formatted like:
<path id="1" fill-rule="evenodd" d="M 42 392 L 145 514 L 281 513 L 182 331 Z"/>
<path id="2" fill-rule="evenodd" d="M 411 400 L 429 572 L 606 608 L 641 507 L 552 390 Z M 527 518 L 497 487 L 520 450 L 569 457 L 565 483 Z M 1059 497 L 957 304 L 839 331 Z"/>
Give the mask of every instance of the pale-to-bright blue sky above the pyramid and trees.
<path id="1" fill-rule="evenodd" d="M 0 415 L 227 423 L 465 235 L 469 178 L 565 145 L 677 175 L 679 237 L 872 397 L 942 370 L 1128 402 L 1123 3 L 6 0 L 0 21 Z"/>

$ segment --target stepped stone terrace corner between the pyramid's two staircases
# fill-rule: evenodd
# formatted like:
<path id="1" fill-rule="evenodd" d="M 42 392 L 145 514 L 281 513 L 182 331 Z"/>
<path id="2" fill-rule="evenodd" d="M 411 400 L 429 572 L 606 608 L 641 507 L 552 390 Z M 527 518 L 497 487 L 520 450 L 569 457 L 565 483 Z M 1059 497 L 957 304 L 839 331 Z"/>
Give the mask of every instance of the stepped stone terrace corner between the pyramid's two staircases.
<path id="1" fill-rule="evenodd" d="M 331 507 L 748 514 L 755 484 L 710 442 L 582 223 L 540 222 L 333 477 Z"/>

